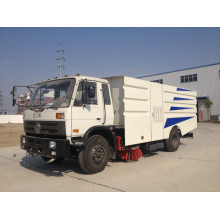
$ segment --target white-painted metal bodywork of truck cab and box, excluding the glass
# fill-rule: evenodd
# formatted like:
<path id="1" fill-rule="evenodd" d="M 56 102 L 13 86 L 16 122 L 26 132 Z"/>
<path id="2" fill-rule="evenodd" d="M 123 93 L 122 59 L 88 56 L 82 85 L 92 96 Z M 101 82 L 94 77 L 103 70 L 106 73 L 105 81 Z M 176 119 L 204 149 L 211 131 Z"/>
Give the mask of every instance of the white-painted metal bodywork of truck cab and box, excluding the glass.
<path id="1" fill-rule="evenodd" d="M 71 137 L 83 137 L 91 127 L 115 125 L 125 129 L 126 146 L 167 139 L 173 126 L 178 126 L 182 135 L 197 127 L 195 91 L 124 76 L 70 78 L 75 78 L 76 84 L 68 108 L 26 110 L 24 120 L 63 120 L 70 142 Z M 85 79 L 97 83 L 97 104 L 74 106 L 78 85 Z M 109 105 L 104 105 L 102 84 L 111 91 Z M 64 113 L 65 118 L 56 119 L 56 113 Z"/>

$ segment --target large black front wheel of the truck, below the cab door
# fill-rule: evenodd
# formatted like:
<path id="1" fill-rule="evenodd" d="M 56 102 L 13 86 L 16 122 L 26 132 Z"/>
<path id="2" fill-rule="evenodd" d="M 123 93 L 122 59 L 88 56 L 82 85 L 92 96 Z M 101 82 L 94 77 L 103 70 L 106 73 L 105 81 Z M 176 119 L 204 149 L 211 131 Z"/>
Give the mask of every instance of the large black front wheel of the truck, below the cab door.
<path id="1" fill-rule="evenodd" d="M 106 139 L 100 135 L 94 135 L 89 138 L 86 146 L 80 149 L 79 165 L 88 174 L 101 172 L 107 165 L 109 154 L 110 149 Z"/>

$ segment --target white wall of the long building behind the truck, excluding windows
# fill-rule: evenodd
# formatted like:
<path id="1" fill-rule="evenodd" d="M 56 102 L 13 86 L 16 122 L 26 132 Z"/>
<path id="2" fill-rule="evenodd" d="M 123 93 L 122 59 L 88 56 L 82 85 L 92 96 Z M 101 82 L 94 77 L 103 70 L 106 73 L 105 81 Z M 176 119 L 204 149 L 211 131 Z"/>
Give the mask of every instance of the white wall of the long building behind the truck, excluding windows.
<path id="1" fill-rule="evenodd" d="M 213 102 L 211 115 L 220 114 L 220 64 L 143 77 L 143 80 L 163 79 L 163 84 L 197 91 L 197 97 L 209 96 Z M 197 82 L 180 83 L 180 76 L 197 74 Z"/>

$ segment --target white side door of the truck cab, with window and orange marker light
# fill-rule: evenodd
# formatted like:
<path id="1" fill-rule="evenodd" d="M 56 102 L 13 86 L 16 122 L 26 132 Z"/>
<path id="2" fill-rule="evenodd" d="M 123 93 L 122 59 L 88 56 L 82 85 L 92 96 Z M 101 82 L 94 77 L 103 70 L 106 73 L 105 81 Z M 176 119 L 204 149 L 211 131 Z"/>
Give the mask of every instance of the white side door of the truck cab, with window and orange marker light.
<path id="1" fill-rule="evenodd" d="M 102 125 L 100 86 L 95 81 L 79 81 L 71 112 L 72 136 L 83 136 L 89 128 Z"/>

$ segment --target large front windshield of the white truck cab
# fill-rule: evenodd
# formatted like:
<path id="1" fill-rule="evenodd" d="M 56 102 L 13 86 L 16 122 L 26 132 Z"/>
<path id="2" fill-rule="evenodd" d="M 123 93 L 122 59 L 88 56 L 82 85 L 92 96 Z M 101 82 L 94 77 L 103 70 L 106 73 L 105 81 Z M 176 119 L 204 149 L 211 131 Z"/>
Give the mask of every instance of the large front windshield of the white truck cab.
<path id="1" fill-rule="evenodd" d="M 61 79 L 38 85 L 29 102 L 30 107 L 68 107 L 72 98 L 75 79 Z"/>

